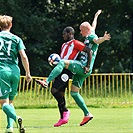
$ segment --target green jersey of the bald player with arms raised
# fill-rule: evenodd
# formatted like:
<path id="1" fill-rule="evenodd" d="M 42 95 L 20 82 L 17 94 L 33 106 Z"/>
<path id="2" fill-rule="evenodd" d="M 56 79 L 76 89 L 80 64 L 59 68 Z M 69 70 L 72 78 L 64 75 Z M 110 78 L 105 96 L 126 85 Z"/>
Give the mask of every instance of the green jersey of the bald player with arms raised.
<path id="1" fill-rule="evenodd" d="M 91 60 L 91 64 L 90 64 L 90 70 L 92 70 L 94 60 L 97 55 L 98 46 L 99 46 L 99 44 L 96 44 L 93 42 L 94 38 L 98 38 L 98 36 L 94 32 L 92 32 L 89 36 L 86 37 L 86 39 L 84 41 L 84 44 L 86 44 L 86 46 L 88 46 L 92 50 L 92 60 Z M 82 65 L 86 66 L 87 61 L 88 61 L 88 54 L 86 52 L 81 51 L 81 53 L 79 55 L 79 59 L 80 59 L 80 62 L 82 63 Z"/>

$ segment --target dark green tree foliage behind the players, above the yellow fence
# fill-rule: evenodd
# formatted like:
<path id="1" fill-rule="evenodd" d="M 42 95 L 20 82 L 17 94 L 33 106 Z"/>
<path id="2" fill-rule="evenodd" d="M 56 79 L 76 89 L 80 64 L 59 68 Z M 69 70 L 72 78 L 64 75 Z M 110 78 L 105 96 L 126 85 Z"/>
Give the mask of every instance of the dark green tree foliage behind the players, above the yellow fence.
<path id="1" fill-rule="evenodd" d="M 1 0 L 0 5 L 0 14 L 14 18 L 11 32 L 25 43 L 32 75 L 49 74 L 47 58 L 60 52 L 64 27 L 74 27 L 75 39 L 83 41 L 79 25 L 92 23 L 98 9 L 103 12 L 96 33 L 103 36 L 108 31 L 112 38 L 100 44 L 93 72 L 132 71 L 132 0 Z M 21 63 L 20 67 L 24 74 Z"/>

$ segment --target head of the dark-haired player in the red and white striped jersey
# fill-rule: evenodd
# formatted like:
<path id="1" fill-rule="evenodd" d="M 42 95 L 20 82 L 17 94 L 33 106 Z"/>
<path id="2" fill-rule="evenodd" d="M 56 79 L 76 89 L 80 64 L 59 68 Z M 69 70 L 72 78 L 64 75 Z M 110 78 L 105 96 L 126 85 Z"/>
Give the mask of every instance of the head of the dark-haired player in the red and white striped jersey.
<path id="1" fill-rule="evenodd" d="M 65 41 L 70 41 L 70 40 L 74 39 L 74 33 L 75 33 L 75 31 L 71 26 L 66 27 L 63 30 L 63 39 Z"/>

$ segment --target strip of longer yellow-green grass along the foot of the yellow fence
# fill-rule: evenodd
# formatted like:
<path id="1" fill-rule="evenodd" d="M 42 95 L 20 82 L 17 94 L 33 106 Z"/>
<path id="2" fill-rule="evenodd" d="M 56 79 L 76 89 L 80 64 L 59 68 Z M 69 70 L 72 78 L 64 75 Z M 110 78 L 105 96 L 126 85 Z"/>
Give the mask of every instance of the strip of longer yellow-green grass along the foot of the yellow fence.
<path id="1" fill-rule="evenodd" d="M 132 107 L 133 95 L 122 96 L 122 97 L 87 97 L 82 95 L 85 103 L 88 107 L 103 108 L 103 107 Z M 66 102 L 68 107 L 77 107 L 74 99 L 70 95 L 66 95 Z M 35 102 L 33 102 L 35 101 Z M 50 94 L 47 92 L 43 94 L 32 94 L 31 92 L 20 93 L 14 100 L 14 105 L 16 108 L 55 108 L 57 107 L 57 102 Z"/>

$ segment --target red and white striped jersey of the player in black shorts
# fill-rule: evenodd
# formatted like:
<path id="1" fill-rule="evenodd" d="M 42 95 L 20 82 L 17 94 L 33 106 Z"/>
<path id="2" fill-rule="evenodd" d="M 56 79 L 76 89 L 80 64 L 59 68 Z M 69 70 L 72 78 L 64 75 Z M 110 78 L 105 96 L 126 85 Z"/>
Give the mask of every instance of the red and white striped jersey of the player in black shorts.
<path id="1" fill-rule="evenodd" d="M 75 39 L 63 43 L 61 47 L 60 57 L 61 59 L 75 60 L 79 52 L 82 51 L 84 47 L 85 47 L 84 43 Z"/>

